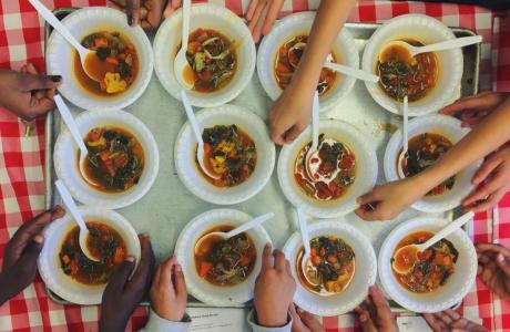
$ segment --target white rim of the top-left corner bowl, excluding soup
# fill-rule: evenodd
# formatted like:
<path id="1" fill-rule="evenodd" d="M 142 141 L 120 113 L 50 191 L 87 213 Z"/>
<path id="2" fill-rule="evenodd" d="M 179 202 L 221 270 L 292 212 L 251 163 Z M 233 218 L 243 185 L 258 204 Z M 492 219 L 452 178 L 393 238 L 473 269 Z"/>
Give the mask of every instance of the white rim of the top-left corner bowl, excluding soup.
<path id="1" fill-rule="evenodd" d="M 95 95 L 82 87 L 74 75 L 74 49 L 53 31 L 47 44 L 47 70 L 50 75 L 62 75 L 59 92 L 65 98 L 84 110 L 112 111 L 131 105 L 142 95 L 151 81 L 154 64 L 151 42 L 142 28 L 128 25 L 124 13 L 105 7 L 79 9 L 65 17 L 62 24 L 78 41 L 101 30 L 120 31 L 134 44 L 140 65 L 137 77 L 125 92 L 112 96 Z"/>

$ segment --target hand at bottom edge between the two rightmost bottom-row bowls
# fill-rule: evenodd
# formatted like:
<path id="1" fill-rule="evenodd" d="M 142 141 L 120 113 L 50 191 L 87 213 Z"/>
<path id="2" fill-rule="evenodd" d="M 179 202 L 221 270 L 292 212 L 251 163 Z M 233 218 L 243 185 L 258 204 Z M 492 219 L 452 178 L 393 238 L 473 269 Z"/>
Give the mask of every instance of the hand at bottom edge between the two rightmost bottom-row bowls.
<path id="1" fill-rule="evenodd" d="M 368 297 L 355 308 L 364 332 L 398 332 L 397 320 L 377 286 L 370 286 Z"/>

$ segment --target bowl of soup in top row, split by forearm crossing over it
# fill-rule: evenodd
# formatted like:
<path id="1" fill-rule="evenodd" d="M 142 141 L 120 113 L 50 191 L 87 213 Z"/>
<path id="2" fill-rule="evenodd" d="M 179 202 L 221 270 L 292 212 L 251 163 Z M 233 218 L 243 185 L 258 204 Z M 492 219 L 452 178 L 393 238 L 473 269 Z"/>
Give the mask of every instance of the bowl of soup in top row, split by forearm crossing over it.
<path id="1" fill-rule="evenodd" d="M 308 42 L 315 13 L 294 13 L 284 18 L 264 37 L 257 53 L 257 74 L 272 100 L 277 100 L 288 86 Z M 347 29 L 336 38 L 328 62 L 359 68 L 358 49 Z M 317 92 L 320 111 L 329 111 L 341 102 L 354 87 L 355 79 L 324 68 L 319 74 Z"/>

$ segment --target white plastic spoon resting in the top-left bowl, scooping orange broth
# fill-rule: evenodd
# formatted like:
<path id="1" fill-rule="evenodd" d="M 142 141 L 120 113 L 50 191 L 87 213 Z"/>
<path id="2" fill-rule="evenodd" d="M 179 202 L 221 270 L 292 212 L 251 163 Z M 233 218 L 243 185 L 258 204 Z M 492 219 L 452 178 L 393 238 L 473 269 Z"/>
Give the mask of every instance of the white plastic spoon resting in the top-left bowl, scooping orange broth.
<path id="1" fill-rule="evenodd" d="M 95 62 L 101 62 L 101 60 L 95 54 L 95 51 L 89 50 L 82 44 L 78 42 L 78 40 L 69 32 L 68 28 L 65 28 L 59 19 L 50 11 L 48 8 L 44 7 L 39 0 L 29 0 L 29 2 L 35 8 L 39 14 L 51 25 L 55 29 L 76 51 L 80 55 L 81 65 L 85 74 L 96 82 L 102 82 L 104 80 L 104 74 L 100 71 L 91 71 L 91 68 L 98 68 L 94 65 Z M 85 65 L 85 62 L 88 65 Z M 99 65 L 99 68 L 103 68 Z"/>

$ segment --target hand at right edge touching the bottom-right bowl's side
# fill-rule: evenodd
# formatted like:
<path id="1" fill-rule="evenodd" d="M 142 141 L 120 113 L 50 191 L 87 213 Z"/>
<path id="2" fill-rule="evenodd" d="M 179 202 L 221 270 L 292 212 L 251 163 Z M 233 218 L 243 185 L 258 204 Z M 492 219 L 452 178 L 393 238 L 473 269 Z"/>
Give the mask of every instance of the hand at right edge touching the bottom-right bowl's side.
<path id="1" fill-rule="evenodd" d="M 478 277 L 489 290 L 510 301 L 510 250 L 500 245 L 478 243 Z"/>

